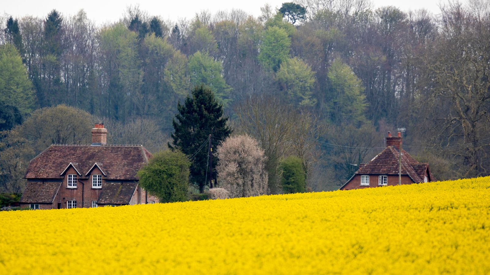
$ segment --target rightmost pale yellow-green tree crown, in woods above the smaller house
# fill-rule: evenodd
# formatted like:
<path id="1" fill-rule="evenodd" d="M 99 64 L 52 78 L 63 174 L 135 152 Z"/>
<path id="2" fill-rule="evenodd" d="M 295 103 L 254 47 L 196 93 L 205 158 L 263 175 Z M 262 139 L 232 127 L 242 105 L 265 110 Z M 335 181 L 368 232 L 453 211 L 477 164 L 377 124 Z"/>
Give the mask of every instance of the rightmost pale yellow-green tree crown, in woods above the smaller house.
<path id="1" fill-rule="evenodd" d="M 359 124 L 366 121 L 366 95 L 362 82 L 349 66 L 336 59 L 329 68 L 330 116 L 334 122 L 350 121 Z"/>

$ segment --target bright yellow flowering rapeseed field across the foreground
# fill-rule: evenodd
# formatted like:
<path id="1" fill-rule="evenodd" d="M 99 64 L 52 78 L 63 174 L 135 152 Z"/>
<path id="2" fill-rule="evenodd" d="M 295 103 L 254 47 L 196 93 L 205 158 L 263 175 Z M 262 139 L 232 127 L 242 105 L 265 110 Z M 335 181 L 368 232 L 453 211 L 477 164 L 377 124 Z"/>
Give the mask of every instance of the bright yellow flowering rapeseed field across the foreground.
<path id="1" fill-rule="evenodd" d="M 490 177 L 0 212 L 0 275 L 490 274 Z"/>

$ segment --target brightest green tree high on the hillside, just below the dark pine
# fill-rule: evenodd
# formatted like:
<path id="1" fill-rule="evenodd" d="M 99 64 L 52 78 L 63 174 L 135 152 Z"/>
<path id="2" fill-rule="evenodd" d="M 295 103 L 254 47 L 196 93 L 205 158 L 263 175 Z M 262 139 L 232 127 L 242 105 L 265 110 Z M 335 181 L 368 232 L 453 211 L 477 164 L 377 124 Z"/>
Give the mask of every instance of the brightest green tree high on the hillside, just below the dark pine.
<path id="1" fill-rule="evenodd" d="M 291 38 L 284 29 L 270 27 L 265 32 L 257 58 L 265 69 L 277 71 L 281 63 L 289 59 L 290 45 Z"/>

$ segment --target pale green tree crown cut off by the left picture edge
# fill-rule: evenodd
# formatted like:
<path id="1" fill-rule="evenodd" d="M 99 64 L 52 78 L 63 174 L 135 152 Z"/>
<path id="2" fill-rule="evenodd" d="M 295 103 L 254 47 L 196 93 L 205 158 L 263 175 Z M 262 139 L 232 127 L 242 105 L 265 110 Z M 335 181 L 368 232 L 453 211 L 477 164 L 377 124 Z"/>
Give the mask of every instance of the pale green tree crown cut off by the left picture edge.
<path id="1" fill-rule="evenodd" d="M 11 44 L 0 46 L 0 101 L 17 107 L 23 115 L 30 114 L 34 107 L 32 83 L 19 52 Z"/>

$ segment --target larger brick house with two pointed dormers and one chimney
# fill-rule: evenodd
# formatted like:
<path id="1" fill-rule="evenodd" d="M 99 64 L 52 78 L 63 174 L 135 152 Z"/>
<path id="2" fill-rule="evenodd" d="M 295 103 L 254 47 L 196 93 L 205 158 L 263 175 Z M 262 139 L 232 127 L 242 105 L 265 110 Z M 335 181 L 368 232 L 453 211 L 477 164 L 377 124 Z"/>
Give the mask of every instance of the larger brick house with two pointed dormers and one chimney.
<path id="1" fill-rule="evenodd" d="M 27 166 L 21 207 L 32 209 L 121 206 L 158 202 L 138 184 L 136 172 L 148 163 L 143 145 L 107 145 L 102 123 L 92 144 L 52 144 Z"/>

